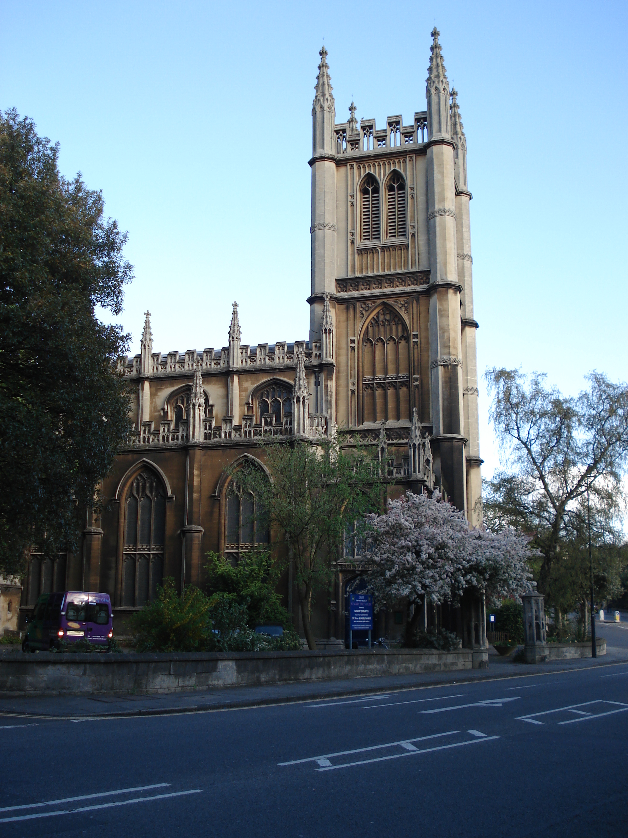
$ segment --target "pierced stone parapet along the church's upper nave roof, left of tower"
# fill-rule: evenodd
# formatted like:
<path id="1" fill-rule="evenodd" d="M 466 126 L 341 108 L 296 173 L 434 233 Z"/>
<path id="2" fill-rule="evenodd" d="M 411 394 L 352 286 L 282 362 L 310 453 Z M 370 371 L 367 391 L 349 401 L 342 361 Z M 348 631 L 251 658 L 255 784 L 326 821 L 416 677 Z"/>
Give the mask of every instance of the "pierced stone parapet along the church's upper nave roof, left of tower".
<path id="1" fill-rule="evenodd" d="M 322 345 L 320 340 L 315 340 L 310 346 L 306 340 L 296 340 L 289 344 L 286 341 L 277 341 L 276 344 L 259 344 L 257 346 L 244 345 L 239 347 L 239 367 L 259 368 L 269 366 L 273 369 L 279 367 L 296 367 L 296 358 L 299 351 L 304 354 L 306 365 L 317 364 L 322 360 Z M 222 349 L 203 349 L 197 352 L 196 349 L 188 349 L 184 353 L 168 352 L 162 355 L 160 352 L 151 354 L 148 375 L 192 375 L 197 360 L 200 361 L 203 375 L 210 372 L 225 372 L 229 370 L 229 346 Z M 140 375 L 142 371 L 142 354 L 136 354 L 132 358 L 122 355 L 118 359 L 117 369 L 123 375 Z"/>

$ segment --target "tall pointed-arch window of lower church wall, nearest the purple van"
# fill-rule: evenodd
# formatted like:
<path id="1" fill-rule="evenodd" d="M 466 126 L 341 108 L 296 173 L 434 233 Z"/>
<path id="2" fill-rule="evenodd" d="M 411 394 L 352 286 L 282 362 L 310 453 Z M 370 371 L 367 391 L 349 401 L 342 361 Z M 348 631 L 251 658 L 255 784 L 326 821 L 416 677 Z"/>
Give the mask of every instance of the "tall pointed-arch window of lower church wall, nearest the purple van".
<path id="1" fill-rule="evenodd" d="M 126 493 L 122 605 L 141 607 L 162 584 L 166 492 L 157 474 L 139 473 Z"/>

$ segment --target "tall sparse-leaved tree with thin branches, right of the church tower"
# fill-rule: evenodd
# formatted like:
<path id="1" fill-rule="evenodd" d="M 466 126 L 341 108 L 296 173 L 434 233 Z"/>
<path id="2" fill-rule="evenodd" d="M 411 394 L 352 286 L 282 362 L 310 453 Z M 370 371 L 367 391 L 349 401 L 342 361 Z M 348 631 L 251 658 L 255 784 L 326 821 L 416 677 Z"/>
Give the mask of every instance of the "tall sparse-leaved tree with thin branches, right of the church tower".
<path id="1" fill-rule="evenodd" d="M 486 371 L 504 468 L 485 482 L 483 510 L 490 529 L 512 525 L 533 535 L 542 554 L 538 587 L 551 600 L 557 561 L 574 540 L 581 542 L 587 489 L 592 515 L 607 530 L 613 530 L 625 500 L 628 387 L 593 372 L 589 388 L 567 398 L 548 389 L 544 379 L 517 370 Z M 616 526 L 614 532 L 616 540 Z"/>

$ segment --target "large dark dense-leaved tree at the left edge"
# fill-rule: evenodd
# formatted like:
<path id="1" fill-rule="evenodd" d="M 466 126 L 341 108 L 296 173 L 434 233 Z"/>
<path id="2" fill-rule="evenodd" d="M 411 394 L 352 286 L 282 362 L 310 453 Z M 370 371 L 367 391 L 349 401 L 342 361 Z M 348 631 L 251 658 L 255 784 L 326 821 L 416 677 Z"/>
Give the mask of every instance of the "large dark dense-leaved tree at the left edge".
<path id="1" fill-rule="evenodd" d="M 116 359 L 132 268 L 100 192 L 59 174 L 59 146 L 0 112 L 0 571 L 28 546 L 72 549 L 85 508 L 129 432 Z"/>

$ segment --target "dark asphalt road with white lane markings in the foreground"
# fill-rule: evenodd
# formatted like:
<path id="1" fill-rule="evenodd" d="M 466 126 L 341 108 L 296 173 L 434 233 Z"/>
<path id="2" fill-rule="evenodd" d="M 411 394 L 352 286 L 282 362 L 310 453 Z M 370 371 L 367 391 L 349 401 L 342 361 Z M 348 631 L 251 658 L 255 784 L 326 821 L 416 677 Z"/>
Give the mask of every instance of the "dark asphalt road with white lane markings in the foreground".
<path id="1" fill-rule="evenodd" d="M 4 716 L 0 748 L 3 838 L 626 835 L 628 662 L 185 715 Z"/>

